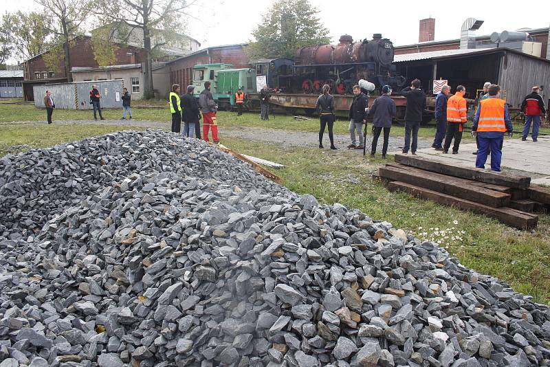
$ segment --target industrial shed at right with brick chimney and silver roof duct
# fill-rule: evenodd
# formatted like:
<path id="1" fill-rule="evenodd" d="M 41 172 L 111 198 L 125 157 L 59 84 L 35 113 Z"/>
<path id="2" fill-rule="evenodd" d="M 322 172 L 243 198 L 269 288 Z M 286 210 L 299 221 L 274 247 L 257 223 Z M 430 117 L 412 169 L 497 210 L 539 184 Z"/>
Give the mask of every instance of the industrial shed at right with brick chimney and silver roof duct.
<path id="1" fill-rule="evenodd" d="M 540 94 L 550 103 L 549 28 L 493 32 L 476 36 L 483 21 L 466 19 L 461 38 L 433 41 L 434 19 L 420 21 L 419 42 L 395 47 L 397 74 L 406 77 L 407 85 L 419 78 L 423 89 L 432 92 L 433 80 L 448 80 L 454 88 L 464 85 L 467 98 L 476 98 L 484 82 L 502 87 L 502 98 L 511 107 L 519 107 L 533 85 L 540 85 Z"/>

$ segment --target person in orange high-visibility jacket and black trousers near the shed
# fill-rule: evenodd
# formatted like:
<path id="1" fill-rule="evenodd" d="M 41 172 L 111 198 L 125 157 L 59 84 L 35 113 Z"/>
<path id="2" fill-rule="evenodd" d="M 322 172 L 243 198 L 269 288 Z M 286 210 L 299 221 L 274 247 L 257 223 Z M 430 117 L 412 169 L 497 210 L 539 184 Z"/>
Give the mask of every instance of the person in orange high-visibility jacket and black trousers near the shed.
<path id="1" fill-rule="evenodd" d="M 449 153 L 451 140 L 454 138 L 452 154 L 459 154 L 459 146 L 462 140 L 462 128 L 466 123 L 466 100 L 464 95 L 466 88 L 463 85 L 456 87 L 454 96 L 447 101 L 447 133 L 445 135 L 445 144 L 443 144 L 443 153 Z"/>

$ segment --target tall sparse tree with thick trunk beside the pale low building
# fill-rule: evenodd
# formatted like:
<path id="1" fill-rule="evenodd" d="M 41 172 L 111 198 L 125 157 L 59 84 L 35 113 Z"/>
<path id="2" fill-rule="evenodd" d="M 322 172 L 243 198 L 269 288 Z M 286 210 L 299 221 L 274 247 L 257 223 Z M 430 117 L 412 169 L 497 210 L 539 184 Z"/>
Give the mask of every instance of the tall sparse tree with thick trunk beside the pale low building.
<path id="1" fill-rule="evenodd" d="M 144 98 L 153 98 L 153 58 L 184 29 L 186 0 L 97 0 L 95 12 L 107 23 L 126 25 L 116 32 L 120 43 L 137 43 L 144 49 Z"/>

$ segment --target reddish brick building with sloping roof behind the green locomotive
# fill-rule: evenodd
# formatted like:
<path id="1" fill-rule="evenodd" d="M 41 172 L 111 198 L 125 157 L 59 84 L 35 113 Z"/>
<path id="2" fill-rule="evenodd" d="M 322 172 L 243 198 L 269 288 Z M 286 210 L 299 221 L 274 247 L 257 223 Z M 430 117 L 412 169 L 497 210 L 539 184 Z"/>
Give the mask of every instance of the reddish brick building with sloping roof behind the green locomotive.
<path id="1" fill-rule="evenodd" d="M 195 65 L 226 63 L 233 67 L 249 67 L 250 60 L 245 52 L 245 43 L 208 47 L 182 56 L 166 64 L 170 74 L 170 85 L 179 84 L 181 90 L 192 84 L 192 69 Z"/>

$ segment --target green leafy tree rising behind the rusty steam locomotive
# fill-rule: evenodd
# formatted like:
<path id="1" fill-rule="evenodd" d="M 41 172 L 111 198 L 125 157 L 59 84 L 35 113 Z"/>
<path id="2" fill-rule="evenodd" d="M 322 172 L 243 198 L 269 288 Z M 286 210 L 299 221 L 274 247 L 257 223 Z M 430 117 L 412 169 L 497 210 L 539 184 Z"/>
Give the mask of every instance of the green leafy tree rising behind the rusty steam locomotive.
<path id="1" fill-rule="evenodd" d="M 300 47 L 329 43 L 329 30 L 317 14 L 309 0 L 275 1 L 252 31 L 250 58 L 293 58 Z"/>

